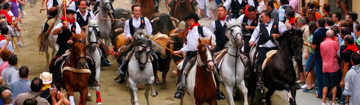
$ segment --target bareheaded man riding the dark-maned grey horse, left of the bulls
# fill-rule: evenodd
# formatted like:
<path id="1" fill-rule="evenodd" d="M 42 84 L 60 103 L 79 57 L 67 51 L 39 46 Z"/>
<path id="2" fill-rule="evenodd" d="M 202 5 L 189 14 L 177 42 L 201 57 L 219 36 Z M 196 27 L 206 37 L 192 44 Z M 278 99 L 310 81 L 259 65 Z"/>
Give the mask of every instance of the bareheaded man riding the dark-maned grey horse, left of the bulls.
<path id="1" fill-rule="evenodd" d="M 126 20 L 125 26 L 124 26 L 124 33 L 128 41 L 132 40 L 132 35 L 134 35 L 136 29 L 146 29 L 148 33 L 144 33 L 147 35 L 151 35 L 153 29 L 151 27 L 150 21 L 147 18 L 140 17 L 141 14 L 141 5 L 139 3 L 135 3 L 131 6 L 131 10 L 134 14 L 132 18 L 129 20 Z M 133 47 L 133 46 L 132 46 Z M 118 78 L 115 80 L 118 83 L 124 82 L 125 73 L 127 70 L 128 61 L 126 61 L 126 56 L 129 54 L 129 52 L 132 50 L 132 47 L 128 49 L 125 52 L 125 57 L 122 59 L 121 65 L 118 68 Z M 158 64 L 157 64 L 157 56 L 153 49 L 150 49 L 150 55 L 154 59 L 151 63 L 153 65 L 153 70 L 157 70 Z"/>

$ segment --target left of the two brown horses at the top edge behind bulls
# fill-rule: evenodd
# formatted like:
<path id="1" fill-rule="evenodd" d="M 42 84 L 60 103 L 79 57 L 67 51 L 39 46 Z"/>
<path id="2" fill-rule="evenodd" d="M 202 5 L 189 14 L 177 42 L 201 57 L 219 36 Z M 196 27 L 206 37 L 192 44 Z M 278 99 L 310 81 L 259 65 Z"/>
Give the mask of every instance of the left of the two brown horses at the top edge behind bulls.
<path id="1" fill-rule="evenodd" d="M 155 13 L 154 11 L 154 0 L 138 0 L 136 3 L 141 5 L 141 15 L 143 17 L 151 18 Z"/>

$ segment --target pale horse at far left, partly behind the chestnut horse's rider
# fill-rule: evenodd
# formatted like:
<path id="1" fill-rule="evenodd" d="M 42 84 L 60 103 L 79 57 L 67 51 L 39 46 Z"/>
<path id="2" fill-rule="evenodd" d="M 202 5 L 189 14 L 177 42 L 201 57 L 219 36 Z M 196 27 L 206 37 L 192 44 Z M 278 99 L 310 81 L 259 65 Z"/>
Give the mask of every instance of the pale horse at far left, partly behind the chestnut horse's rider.
<path id="1" fill-rule="evenodd" d="M 60 18 L 63 17 L 63 5 L 62 5 L 62 2 L 58 2 L 58 15 L 55 16 L 54 18 L 57 18 L 55 20 L 49 20 L 49 21 L 55 21 L 54 22 L 54 27 L 61 22 Z M 54 19 L 53 18 L 53 19 Z M 46 22 L 46 19 L 44 20 L 44 23 L 42 24 L 42 27 L 41 27 L 41 32 L 42 30 L 44 30 L 44 26 L 45 26 L 45 22 Z M 51 27 L 51 26 L 50 26 Z M 56 43 L 56 40 L 58 38 L 58 35 L 53 35 L 53 30 L 51 30 L 50 34 L 48 35 L 46 41 L 45 41 L 45 56 L 46 56 L 46 70 L 49 70 L 49 64 L 50 64 L 50 61 L 49 61 L 49 58 L 50 58 L 50 55 L 49 55 L 49 47 L 52 50 L 51 52 L 51 58 L 54 58 L 56 52 L 59 50 L 59 45 Z M 39 36 L 37 36 L 37 44 L 38 44 L 38 49 L 40 48 L 40 42 L 41 42 L 41 32 L 39 34 Z M 40 55 L 42 55 L 42 53 L 39 53 Z M 50 59 L 51 60 L 51 59 Z"/>

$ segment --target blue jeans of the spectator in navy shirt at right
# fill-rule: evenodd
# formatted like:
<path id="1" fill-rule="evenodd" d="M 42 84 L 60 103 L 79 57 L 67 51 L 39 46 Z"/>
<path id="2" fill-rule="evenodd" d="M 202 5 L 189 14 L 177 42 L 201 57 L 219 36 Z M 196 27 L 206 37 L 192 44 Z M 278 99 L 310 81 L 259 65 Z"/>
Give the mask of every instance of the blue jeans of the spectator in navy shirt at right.
<path id="1" fill-rule="evenodd" d="M 323 96 L 323 59 L 321 58 L 315 58 L 315 72 L 316 72 L 316 78 L 318 82 L 318 95 Z"/>

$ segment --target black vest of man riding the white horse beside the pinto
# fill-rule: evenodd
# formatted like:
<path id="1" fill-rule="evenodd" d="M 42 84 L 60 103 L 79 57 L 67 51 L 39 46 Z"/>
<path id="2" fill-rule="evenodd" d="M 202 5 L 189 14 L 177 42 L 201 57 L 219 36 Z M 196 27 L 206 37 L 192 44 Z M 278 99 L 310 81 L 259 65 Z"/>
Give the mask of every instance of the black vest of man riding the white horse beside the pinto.
<path id="1" fill-rule="evenodd" d="M 225 21 L 228 21 L 229 18 L 226 18 Z M 217 19 L 215 21 L 215 37 L 216 37 L 216 45 L 225 45 L 224 38 L 225 38 L 225 31 L 226 31 L 226 23 L 224 26 L 221 26 L 220 20 Z"/>

